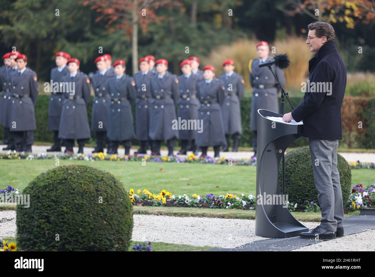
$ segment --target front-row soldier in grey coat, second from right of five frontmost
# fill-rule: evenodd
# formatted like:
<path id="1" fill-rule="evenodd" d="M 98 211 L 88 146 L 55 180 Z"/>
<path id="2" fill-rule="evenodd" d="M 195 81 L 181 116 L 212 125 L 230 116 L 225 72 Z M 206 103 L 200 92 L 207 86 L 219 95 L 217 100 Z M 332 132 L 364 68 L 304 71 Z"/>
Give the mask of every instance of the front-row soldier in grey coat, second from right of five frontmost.
<path id="1" fill-rule="evenodd" d="M 180 98 L 178 79 L 176 75 L 167 71 L 167 60 L 159 59 L 155 65 L 157 74 L 150 78 L 153 99 L 149 135 L 154 141 L 151 152 L 160 155 L 161 141 L 166 139 L 168 156 L 173 156 L 175 139 L 178 138 L 177 129 L 172 129 L 173 120 L 177 120 L 175 105 Z"/>

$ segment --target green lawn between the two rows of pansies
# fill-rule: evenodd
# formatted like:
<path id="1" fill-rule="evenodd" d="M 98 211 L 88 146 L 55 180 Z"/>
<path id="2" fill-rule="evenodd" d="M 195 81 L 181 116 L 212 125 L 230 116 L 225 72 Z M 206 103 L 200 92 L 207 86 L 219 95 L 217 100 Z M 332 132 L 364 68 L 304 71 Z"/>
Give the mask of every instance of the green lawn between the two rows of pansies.
<path id="1" fill-rule="evenodd" d="M 60 160 L 61 165 L 78 163 L 111 172 L 127 190 L 165 189 L 174 195 L 220 195 L 234 193 L 255 195 L 256 166 L 227 166 L 189 163 L 110 162 Z M 23 190 L 37 175 L 55 168 L 55 160 L 0 160 L 0 188 L 12 186 Z M 187 179 L 187 180 L 186 180 Z M 353 169 L 352 184 L 375 183 L 375 170 Z"/>

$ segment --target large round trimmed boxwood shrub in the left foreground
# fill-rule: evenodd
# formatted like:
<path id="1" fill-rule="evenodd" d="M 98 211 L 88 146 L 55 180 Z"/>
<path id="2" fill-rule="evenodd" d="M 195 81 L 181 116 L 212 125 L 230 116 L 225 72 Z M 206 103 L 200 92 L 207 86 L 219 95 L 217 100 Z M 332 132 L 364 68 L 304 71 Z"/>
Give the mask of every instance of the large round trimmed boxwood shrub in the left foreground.
<path id="1" fill-rule="evenodd" d="M 112 174 L 90 166 L 57 166 L 37 176 L 23 194 L 30 195 L 30 207 L 17 207 L 21 249 L 128 250 L 132 204 Z"/>

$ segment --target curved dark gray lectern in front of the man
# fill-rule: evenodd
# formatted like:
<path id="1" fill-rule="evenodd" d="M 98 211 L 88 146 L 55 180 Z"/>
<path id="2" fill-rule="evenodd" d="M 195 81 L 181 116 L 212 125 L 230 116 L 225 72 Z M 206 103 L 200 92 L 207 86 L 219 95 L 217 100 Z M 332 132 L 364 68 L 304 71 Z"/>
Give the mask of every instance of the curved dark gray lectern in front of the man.
<path id="1" fill-rule="evenodd" d="M 297 138 L 303 135 L 303 124 L 286 124 L 270 120 L 270 117 L 283 117 L 282 114 L 258 109 L 257 137 L 257 204 L 255 207 L 255 235 L 266 238 L 288 238 L 308 232 L 292 216 L 283 204 L 269 204 L 263 201 L 265 195 L 281 195 L 279 165 L 284 151 Z M 284 178 L 284 176 L 283 176 Z M 261 204 L 258 205 L 258 196 Z"/>

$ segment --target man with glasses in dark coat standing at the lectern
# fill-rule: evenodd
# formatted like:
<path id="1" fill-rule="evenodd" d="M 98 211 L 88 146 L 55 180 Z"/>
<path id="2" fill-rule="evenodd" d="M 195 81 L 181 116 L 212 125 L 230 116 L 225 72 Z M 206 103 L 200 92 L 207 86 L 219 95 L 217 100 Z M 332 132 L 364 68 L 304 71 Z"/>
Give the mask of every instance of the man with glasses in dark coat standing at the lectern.
<path id="1" fill-rule="evenodd" d="M 283 120 L 303 120 L 303 136 L 309 138 L 315 187 L 322 209 L 320 225 L 303 238 L 335 238 L 344 235 L 344 210 L 337 148 L 342 139 L 341 106 L 347 84 L 347 70 L 336 49 L 335 31 L 326 22 L 309 24 L 306 44 L 316 52 L 309 60 L 309 80 L 303 102 Z"/>

